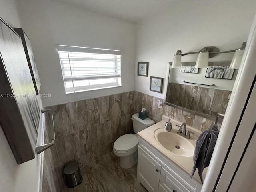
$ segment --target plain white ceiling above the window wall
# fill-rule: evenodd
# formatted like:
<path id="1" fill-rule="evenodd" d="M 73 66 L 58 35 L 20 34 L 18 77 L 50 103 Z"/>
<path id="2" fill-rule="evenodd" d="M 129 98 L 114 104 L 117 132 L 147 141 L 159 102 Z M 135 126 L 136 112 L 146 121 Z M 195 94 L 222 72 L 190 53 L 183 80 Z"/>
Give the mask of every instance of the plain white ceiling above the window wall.
<path id="1" fill-rule="evenodd" d="M 159 12 L 167 11 L 174 0 L 59 0 L 85 10 L 132 23 L 139 23 Z"/>

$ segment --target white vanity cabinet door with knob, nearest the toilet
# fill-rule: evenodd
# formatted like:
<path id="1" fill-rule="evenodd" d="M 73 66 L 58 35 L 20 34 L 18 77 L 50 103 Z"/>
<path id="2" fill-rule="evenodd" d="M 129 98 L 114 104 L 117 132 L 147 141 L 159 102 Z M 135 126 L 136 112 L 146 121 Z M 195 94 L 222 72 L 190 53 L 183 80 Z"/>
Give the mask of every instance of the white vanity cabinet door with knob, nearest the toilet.
<path id="1" fill-rule="evenodd" d="M 157 192 L 161 165 L 142 148 L 138 149 L 138 181 L 149 191 Z"/>

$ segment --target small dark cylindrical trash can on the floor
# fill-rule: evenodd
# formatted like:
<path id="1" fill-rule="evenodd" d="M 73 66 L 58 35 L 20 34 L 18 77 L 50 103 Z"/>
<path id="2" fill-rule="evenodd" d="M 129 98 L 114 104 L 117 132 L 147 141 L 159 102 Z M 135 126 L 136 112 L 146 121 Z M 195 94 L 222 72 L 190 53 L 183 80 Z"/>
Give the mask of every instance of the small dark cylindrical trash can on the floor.
<path id="1" fill-rule="evenodd" d="M 69 188 L 80 185 L 83 180 L 79 169 L 79 163 L 75 161 L 70 162 L 65 166 L 64 175 Z"/>

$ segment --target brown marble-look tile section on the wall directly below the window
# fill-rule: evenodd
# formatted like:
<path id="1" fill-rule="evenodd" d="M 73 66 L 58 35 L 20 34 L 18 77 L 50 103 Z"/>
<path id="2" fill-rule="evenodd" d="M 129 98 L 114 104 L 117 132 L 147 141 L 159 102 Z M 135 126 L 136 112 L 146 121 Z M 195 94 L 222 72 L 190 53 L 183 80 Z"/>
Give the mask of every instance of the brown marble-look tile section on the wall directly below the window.
<path id="1" fill-rule="evenodd" d="M 50 106 L 54 114 L 60 163 L 84 167 L 113 149 L 114 141 L 132 132 L 134 92 Z"/>

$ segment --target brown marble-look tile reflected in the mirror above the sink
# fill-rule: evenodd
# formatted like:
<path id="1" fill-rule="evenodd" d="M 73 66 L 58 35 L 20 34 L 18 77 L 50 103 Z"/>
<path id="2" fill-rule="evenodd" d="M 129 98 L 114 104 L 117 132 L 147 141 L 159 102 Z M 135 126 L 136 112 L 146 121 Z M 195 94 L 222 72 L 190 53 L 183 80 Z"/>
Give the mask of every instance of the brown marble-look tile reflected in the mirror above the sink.
<path id="1" fill-rule="evenodd" d="M 172 104 L 215 116 L 225 113 L 231 91 L 169 83 L 166 100 Z"/>

